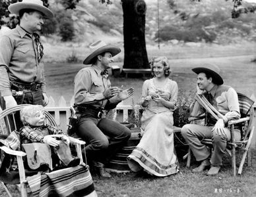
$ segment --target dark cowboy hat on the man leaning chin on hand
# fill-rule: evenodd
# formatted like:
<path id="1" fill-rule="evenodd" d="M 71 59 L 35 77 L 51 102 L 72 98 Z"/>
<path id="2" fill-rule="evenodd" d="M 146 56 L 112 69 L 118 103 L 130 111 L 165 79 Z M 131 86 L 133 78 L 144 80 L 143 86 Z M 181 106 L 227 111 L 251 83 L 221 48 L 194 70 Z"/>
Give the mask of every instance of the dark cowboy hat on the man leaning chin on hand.
<path id="1" fill-rule="evenodd" d="M 222 77 L 220 76 L 220 68 L 214 64 L 203 64 L 200 67 L 193 68 L 193 72 L 199 74 L 201 72 L 208 74 L 212 77 L 217 85 L 222 85 L 224 83 Z"/>

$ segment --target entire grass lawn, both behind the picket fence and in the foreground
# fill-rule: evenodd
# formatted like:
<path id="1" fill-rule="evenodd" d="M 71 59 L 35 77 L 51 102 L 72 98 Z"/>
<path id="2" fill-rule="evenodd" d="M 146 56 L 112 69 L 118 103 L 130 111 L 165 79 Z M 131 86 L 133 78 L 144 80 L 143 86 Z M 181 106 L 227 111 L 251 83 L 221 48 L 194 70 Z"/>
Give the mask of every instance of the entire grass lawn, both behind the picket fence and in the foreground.
<path id="1" fill-rule="evenodd" d="M 172 68 L 170 77 L 177 81 L 179 91 L 183 90 L 187 94 L 189 91 L 194 91 L 196 85 L 197 76 L 191 72 L 191 68 L 204 62 L 212 62 L 220 66 L 226 85 L 231 85 L 245 95 L 256 95 L 256 64 L 251 62 L 251 59 L 255 58 L 255 50 L 252 51 L 253 47 L 242 45 L 240 47 L 220 46 L 216 50 L 211 47 L 198 49 L 165 47 L 162 51 L 148 50 L 148 56 L 168 56 Z M 250 50 L 246 51 L 248 49 Z M 122 66 L 121 62 L 113 65 L 115 64 Z M 48 95 L 55 101 L 63 96 L 69 105 L 69 100 L 73 96 L 73 79 L 83 67 L 82 64 L 51 61 L 46 63 Z M 110 80 L 113 86 L 134 87 L 135 94 L 132 98 L 125 100 L 124 104 L 136 103 L 139 100 L 144 79 L 110 76 Z M 113 178 L 106 180 L 93 175 L 98 196 L 256 196 L 256 150 L 253 151 L 252 166 L 245 165 L 242 175 L 238 177 L 232 176 L 230 159 L 224 161 L 225 165 L 216 177 L 207 177 L 205 173 L 191 173 L 191 169 L 187 169 L 182 160 L 185 152 L 179 152 L 179 150 L 177 152 L 180 171 L 169 177 L 156 178 L 143 173 L 126 173 L 112 174 Z M 197 164 L 194 161 L 191 168 L 195 166 Z M 2 185 L 0 196 L 7 196 Z M 15 196 L 18 194 L 15 193 Z"/>

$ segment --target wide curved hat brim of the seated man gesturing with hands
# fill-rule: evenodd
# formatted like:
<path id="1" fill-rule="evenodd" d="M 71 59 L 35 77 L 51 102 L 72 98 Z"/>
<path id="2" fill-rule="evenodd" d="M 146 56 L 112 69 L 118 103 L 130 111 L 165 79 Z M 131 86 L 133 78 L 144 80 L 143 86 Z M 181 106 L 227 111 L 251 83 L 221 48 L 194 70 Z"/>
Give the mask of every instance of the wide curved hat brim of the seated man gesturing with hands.
<path id="1" fill-rule="evenodd" d="M 92 64 L 92 59 L 95 56 L 100 55 L 101 53 L 104 53 L 104 52 L 110 52 L 112 54 L 112 56 L 115 56 L 121 52 L 121 49 L 119 47 L 115 47 L 115 45 L 106 45 L 104 47 L 100 47 L 99 49 L 97 49 L 96 51 L 94 51 L 90 55 L 88 55 L 85 58 L 83 64 Z"/>

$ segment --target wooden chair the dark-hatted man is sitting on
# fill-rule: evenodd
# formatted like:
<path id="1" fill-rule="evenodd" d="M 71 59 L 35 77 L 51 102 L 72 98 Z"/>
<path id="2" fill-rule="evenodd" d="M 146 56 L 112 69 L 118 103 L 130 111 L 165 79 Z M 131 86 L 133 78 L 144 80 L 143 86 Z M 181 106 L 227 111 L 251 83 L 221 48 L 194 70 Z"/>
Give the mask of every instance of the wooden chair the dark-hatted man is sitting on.
<path id="1" fill-rule="evenodd" d="M 248 162 L 247 165 L 251 165 L 251 139 L 253 137 L 254 127 L 253 123 L 253 103 L 254 101 L 249 99 L 249 97 L 238 93 L 238 100 L 240 104 L 240 114 L 241 118 L 239 120 L 231 120 L 228 121 L 228 126 L 231 130 L 231 141 L 227 144 L 227 152 L 232 156 L 232 169 L 233 174 L 236 176 L 236 151 L 242 151 L 243 155 L 240 162 L 240 167 L 238 169 L 238 174 L 241 174 L 243 169 L 243 164 L 245 163 L 245 158 L 247 156 Z M 205 118 L 205 116 L 201 116 L 199 118 L 190 118 L 189 120 L 195 121 Z M 234 141 L 234 126 L 238 125 L 241 130 L 241 141 Z M 203 139 L 203 144 L 212 147 L 211 139 Z M 231 151 L 230 151 L 231 149 Z M 191 150 L 189 148 L 188 153 L 183 157 L 187 158 L 187 167 L 190 167 L 191 163 Z"/>

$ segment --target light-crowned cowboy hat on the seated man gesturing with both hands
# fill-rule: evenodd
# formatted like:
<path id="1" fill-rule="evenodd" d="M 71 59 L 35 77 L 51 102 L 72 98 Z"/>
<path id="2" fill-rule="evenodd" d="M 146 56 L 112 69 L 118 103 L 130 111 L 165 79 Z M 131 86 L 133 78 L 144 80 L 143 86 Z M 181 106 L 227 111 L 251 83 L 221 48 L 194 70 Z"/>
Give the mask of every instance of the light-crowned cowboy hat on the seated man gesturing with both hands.
<path id="1" fill-rule="evenodd" d="M 110 52 L 112 56 L 115 56 L 121 52 L 119 47 L 116 47 L 115 45 L 107 45 L 104 41 L 101 40 L 92 43 L 90 45 L 90 49 L 92 52 L 85 58 L 83 62 L 84 64 L 92 64 L 92 59 L 104 52 Z"/>

